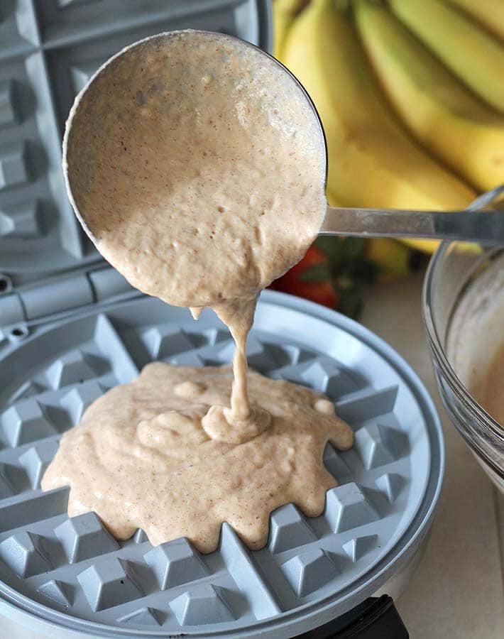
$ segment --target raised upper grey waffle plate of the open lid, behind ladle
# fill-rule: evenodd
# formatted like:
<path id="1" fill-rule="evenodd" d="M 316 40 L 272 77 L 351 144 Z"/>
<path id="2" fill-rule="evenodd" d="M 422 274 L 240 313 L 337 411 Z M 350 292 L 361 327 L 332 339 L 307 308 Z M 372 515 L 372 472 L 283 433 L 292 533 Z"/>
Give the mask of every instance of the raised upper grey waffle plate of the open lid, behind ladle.
<path id="1" fill-rule="evenodd" d="M 268 48 L 267 11 L 266 0 L 0 0 L 0 272 L 7 283 L 99 258 L 60 168 L 65 119 L 94 71 L 126 45 L 176 28 L 224 31 Z"/>

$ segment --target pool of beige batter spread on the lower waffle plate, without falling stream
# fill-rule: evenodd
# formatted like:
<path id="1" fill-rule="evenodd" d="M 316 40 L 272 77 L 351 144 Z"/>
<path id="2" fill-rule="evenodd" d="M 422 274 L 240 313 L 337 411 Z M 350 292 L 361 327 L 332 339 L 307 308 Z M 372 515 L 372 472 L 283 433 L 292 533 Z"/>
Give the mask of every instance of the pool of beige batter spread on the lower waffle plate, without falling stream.
<path id="1" fill-rule="evenodd" d="M 202 552 L 217 547 L 223 521 L 260 548 L 278 506 L 319 515 L 335 485 L 324 446 L 349 448 L 351 430 L 321 395 L 251 371 L 251 403 L 268 411 L 270 427 L 240 445 L 212 439 L 202 417 L 226 404 L 231 379 L 227 367 L 148 364 L 65 433 L 43 488 L 71 484 L 69 514 L 95 510 L 116 537 L 143 528 L 153 544 L 185 536 Z"/>

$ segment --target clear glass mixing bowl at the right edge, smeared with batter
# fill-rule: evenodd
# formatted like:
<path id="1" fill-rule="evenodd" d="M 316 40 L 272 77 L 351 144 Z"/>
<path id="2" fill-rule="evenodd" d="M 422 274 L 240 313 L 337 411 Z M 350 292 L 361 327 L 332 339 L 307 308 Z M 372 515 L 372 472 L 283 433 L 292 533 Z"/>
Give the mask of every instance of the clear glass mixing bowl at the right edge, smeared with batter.
<path id="1" fill-rule="evenodd" d="M 503 346 L 504 305 L 492 310 L 496 315 L 492 325 L 488 324 L 488 309 L 504 300 L 503 282 L 504 246 L 444 242 L 427 270 L 423 315 L 444 406 L 476 459 L 504 492 L 504 427 L 469 392 L 468 374 L 474 372 L 476 364 L 464 361 L 460 352 L 466 348 L 481 365 L 488 364 L 484 342 L 498 342 L 495 351 Z M 500 302 L 495 302 L 499 297 Z"/>

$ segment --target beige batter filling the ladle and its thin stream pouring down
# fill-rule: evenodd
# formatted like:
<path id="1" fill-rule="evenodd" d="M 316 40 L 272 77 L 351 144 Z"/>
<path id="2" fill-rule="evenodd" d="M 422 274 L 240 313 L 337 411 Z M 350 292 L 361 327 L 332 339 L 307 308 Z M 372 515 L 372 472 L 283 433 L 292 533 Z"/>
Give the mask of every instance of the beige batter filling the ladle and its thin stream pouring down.
<path id="1" fill-rule="evenodd" d="M 256 297 L 302 258 L 327 206 L 302 89 L 251 45 L 179 31 L 109 62 L 72 118 L 69 187 L 97 248 L 144 293 L 217 311 L 238 347 L 231 410 L 212 421 L 261 432 L 243 357 Z"/>

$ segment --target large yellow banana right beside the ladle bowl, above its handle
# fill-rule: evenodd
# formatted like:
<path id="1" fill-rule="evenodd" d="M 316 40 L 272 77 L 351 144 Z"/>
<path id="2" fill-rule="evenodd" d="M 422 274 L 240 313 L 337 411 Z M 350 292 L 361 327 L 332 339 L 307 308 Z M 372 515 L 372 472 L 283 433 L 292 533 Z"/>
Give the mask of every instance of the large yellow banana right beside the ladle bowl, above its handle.
<path id="1" fill-rule="evenodd" d="M 284 60 L 321 116 L 328 190 L 346 206 L 464 209 L 475 195 L 417 146 L 386 106 L 349 16 L 312 0 L 287 35 Z M 410 240 L 432 251 L 434 241 Z"/>

